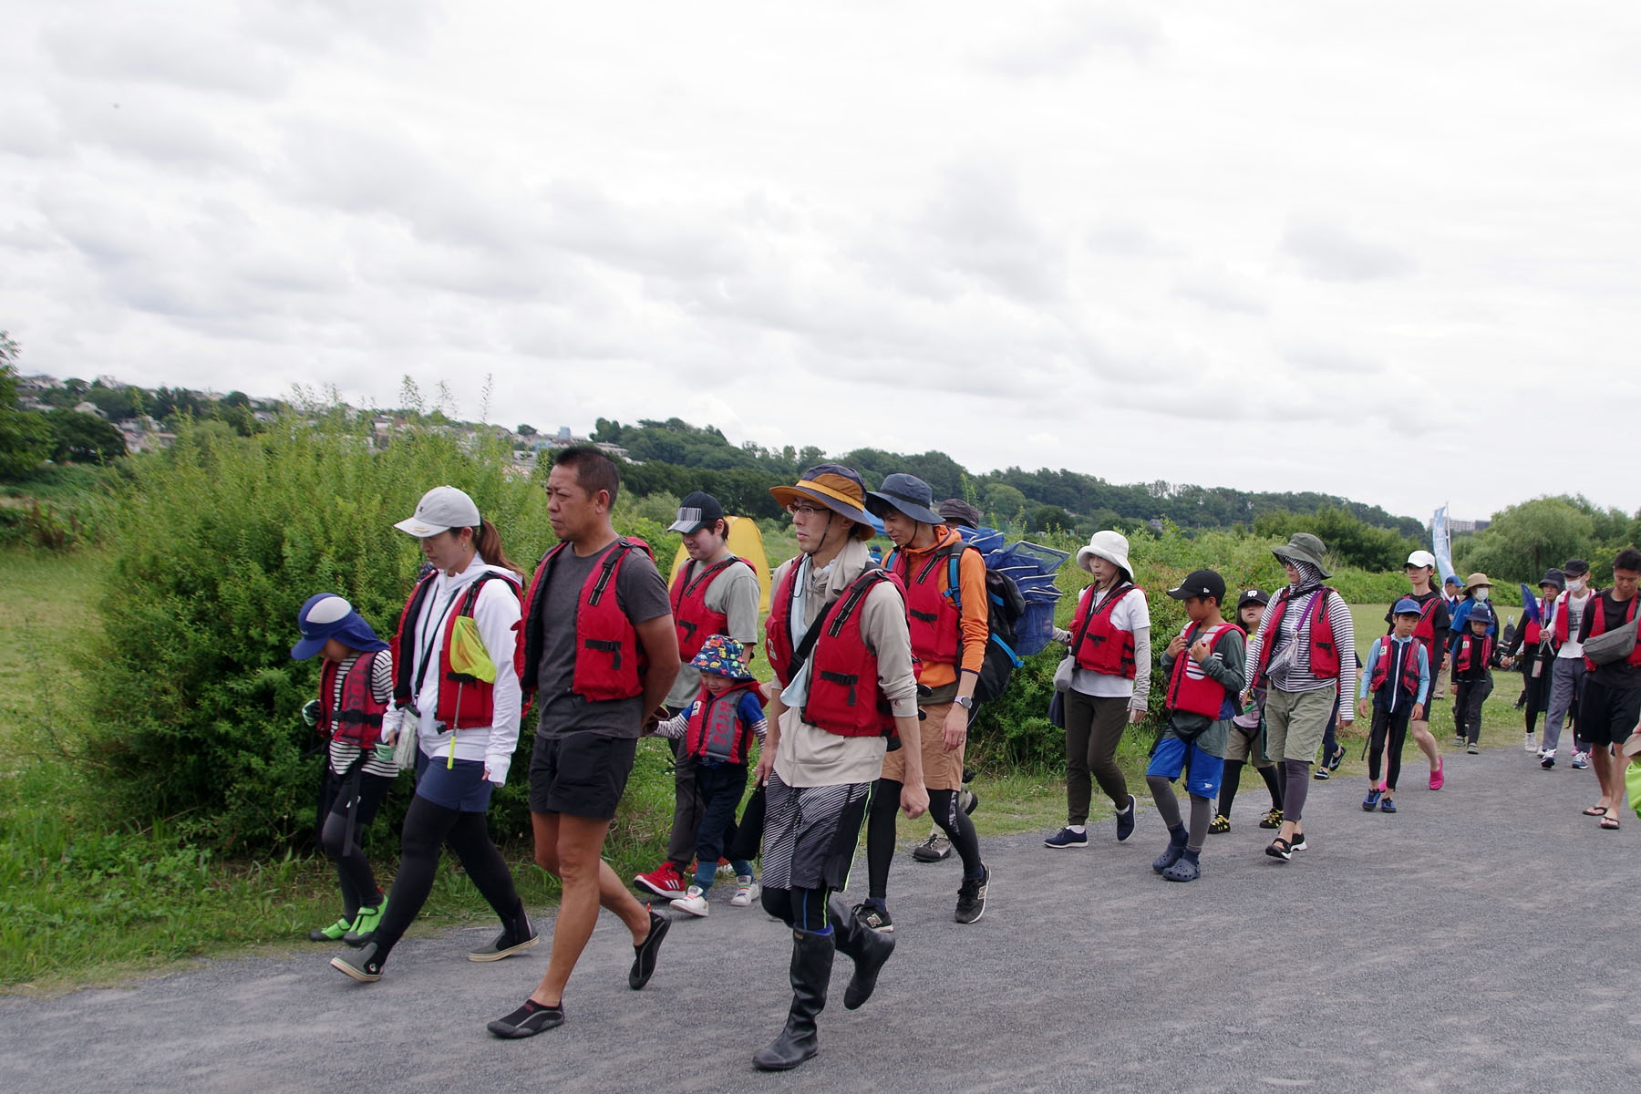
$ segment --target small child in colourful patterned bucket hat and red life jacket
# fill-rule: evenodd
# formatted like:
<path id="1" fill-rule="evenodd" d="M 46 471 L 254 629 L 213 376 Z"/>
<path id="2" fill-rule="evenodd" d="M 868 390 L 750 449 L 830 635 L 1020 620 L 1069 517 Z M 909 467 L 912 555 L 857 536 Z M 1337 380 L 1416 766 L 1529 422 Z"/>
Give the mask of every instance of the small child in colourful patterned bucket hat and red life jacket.
<path id="1" fill-rule="evenodd" d="M 701 694 L 689 709 L 655 727 L 666 738 L 683 738 L 679 754 L 696 764 L 696 794 L 701 795 L 701 828 L 696 833 L 696 881 L 673 907 L 691 915 L 707 914 L 707 889 L 717 874 L 719 855 L 729 845 L 735 809 L 747 791 L 747 758 L 752 741 L 763 745 L 763 694 L 743 658 L 745 648 L 729 635 L 712 635 L 689 664 L 701 669 Z M 748 907 L 758 899 L 752 863 L 735 859 L 732 907 Z"/>

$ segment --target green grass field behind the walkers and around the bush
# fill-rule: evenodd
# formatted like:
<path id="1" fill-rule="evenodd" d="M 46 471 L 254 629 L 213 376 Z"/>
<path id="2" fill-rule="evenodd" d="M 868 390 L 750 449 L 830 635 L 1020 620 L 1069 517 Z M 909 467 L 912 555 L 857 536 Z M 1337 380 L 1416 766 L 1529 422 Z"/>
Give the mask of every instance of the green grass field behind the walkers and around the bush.
<path id="1" fill-rule="evenodd" d="M 786 545 L 771 543 L 771 559 Z M 59 991 L 115 981 L 169 963 L 248 948 L 325 946 L 307 930 L 336 917 L 331 868 L 310 855 L 223 861 L 182 845 L 164 822 L 115 823 L 85 777 L 85 695 L 79 659 L 97 633 L 94 610 L 105 561 L 82 551 L 3 554 L 0 594 L 0 989 Z M 1364 651 L 1383 631 L 1385 605 L 1354 609 Z M 1498 674 L 1487 709 L 1488 743 L 1518 745 L 1510 710 L 1516 687 Z M 1438 740 L 1449 730 L 1438 712 Z M 1451 717 L 1451 715 L 1449 715 Z M 1364 727 L 1365 730 L 1365 727 Z M 1149 732 L 1131 732 L 1119 750 L 1136 794 L 1144 795 Z M 1360 748 L 1341 774 L 1357 774 Z M 1411 758 L 1410 758 L 1411 759 Z M 1252 773 L 1247 782 L 1257 784 Z M 1055 771 L 988 771 L 973 784 L 981 797 L 981 835 L 1052 832 L 1065 818 L 1065 781 Z M 1252 787 L 1250 787 L 1252 789 Z M 1257 794 L 1257 791 L 1252 791 Z M 633 809 L 614 828 L 609 858 L 624 874 L 660 861 L 671 820 L 666 750 L 647 741 L 629 784 Z M 1250 797 L 1250 800 L 1254 800 Z M 1098 800 L 1095 820 L 1109 817 Z M 927 820 L 901 820 L 904 843 L 921 841 Z M 376 848 L 391 848 L 379 838 Z M 556 899 L 556 886 L 530 863 L 527 846 L 505 848 L 530 907 Z M 377 859 L 386 853 L 377 855 Z M 391 863 L 381 863 L 391 876 Z M 386 876 L 382 881 L 386 882 Z M 489 909 L 448 859 L 415 930 L 484 922 Z"/>

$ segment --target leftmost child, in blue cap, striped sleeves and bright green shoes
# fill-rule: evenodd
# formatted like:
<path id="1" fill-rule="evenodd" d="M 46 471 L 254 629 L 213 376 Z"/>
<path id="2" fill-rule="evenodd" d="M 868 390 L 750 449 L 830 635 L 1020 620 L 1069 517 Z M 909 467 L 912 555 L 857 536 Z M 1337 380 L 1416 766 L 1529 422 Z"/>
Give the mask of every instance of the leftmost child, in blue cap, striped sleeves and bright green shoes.
<path id="1" fill-rule="evenodd" d="M 290 656 L 307 661 L 317 653 L 325 659 L 318 674 L 318 699 L 302 707 L 302 720 L 330 743 L 318 840 L 336 863 L 341 886 L 341 919 L 310 930 L 309 938 L 358 940 L 374 932 L 387 910 L 387 897 L 371 873 L 359 832 L 371 827 L 387 787 L 399 776 L 391 748 L 402 717 L 389 702 L 394 695 L 394 656 L 353 605 L 333 592 L 309 597 L 297 625 L 302 641 L 290 648 Z"/>

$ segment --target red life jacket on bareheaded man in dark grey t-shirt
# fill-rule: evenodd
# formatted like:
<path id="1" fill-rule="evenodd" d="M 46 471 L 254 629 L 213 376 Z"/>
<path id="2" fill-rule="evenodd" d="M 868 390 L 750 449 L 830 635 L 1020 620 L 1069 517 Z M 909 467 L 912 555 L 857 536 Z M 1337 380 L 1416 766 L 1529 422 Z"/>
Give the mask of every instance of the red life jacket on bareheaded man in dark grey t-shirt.
<path id="1" fill-rule="evenodd" d="M 535 613 L 542 605 L 537 597 L 545 594 L 553 561 L 565 546 L 560 543 L 542 556 L 535 581 L 530 582 L 530 597 L 525 602 L 527 627 L 523 630 L 527 635 L 538 631 Z M 576 604 L 576 668 L 569 691 L 587 702 L 642 695 L 643 677 L 650 671 L 650 656 L 643 651 L 638 631 L 627 613 L 620 610 L 620 602 L 615 597 L 615 582 L 630 551 L 643 551 L 651 561 L 655 559 L 648 543 L 620 536 L 604 551 L 604 558 L 581 582 L 581 597 Z M 525 661 L 525 681 L 533 684 L 535 664 L 528 656 Z"/>

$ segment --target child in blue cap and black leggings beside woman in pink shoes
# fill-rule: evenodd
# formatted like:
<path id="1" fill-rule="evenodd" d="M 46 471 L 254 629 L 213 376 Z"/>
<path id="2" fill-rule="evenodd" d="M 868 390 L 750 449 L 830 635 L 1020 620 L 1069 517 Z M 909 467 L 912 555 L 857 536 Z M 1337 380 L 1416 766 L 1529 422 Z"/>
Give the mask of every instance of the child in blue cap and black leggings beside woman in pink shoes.
<path id="1" fill-rule="evenodd" d="M 1413 638 L 1413 628 L 1423 618 L 1423 605 L 1403 597 L 1393 609 L 1393 631 L 1374 640 L 1367 651 L 1367 671 L 1362 672 L 1357 707 L 1364 720 L 1372 722 L 1367 740 L 1367 797 L 1362 810 L 1396 812 L 1396 776 L 1401 774 L 1401 746 L 1408 740 L 1408 722 L 1424 717 L 1424 704 L 1431 694 L 1431 659 L 1424 643 Z M 1372 709 L 1370 705 L 1372 697 Z M 1378 781 L 1378 759 L 1390 746 L 1385 763 L 1385 781 Z"/>

